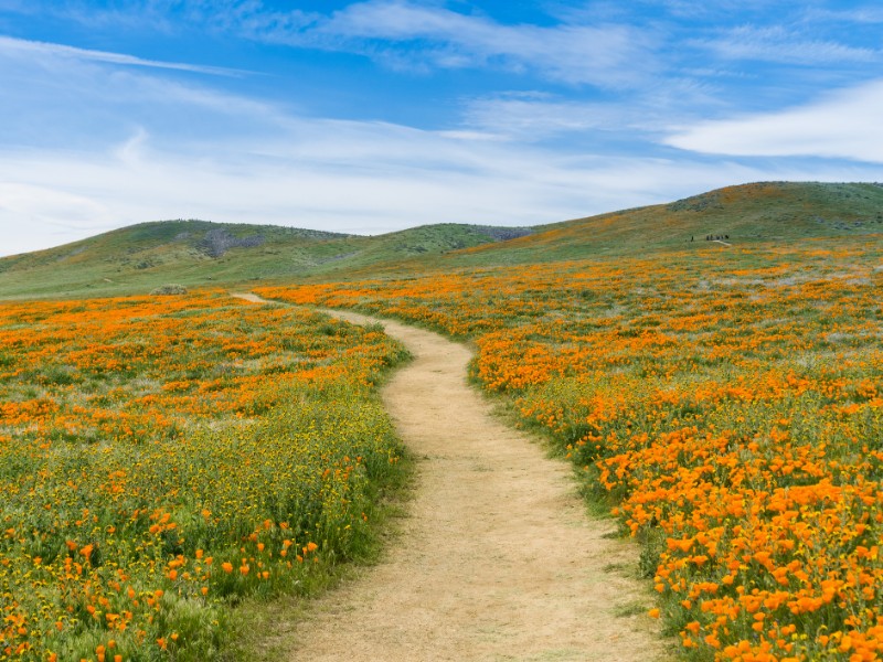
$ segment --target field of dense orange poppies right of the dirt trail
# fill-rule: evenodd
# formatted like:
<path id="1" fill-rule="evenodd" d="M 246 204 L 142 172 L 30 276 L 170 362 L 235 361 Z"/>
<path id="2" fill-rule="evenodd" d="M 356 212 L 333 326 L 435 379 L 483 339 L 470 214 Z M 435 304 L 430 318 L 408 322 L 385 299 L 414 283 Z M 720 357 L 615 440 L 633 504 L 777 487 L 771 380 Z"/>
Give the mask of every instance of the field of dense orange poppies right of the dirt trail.
<path id="1" fill-rule="evenodd" d="M 641 540 L 685 658 L 883 656 L 879 237 L 259 291 L 475 342 Z"/>

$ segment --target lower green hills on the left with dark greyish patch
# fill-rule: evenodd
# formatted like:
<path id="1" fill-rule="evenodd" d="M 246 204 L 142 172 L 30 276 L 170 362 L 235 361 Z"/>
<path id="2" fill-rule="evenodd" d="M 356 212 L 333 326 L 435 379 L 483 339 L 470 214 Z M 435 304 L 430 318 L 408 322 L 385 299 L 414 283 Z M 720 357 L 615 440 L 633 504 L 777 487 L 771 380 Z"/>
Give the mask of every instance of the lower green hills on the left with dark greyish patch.
<path id="1" fill-rule="evenodd" d="M 274 225 L 159 221 L 0 258 L 0 297 L 105 296 L 168 284 L 297 279 L 439 255 L 531 233 L 439 224 L 374 237 Z"/>

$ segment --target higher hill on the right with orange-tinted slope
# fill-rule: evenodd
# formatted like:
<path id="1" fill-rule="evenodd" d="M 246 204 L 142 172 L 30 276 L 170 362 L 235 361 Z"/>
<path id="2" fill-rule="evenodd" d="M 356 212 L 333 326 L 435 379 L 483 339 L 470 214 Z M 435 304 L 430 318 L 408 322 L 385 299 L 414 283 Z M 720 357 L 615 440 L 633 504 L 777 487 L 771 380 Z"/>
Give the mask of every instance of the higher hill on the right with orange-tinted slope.
<path id="1" fill-rule="evenodd" d="M 881 235 L 883 185 L 762 182 L 719 189 L 670 204 L 538 227 L 531 236 L 465 250 L 451 264 L 523 264 L 587 255 L 640 255 L 808 237 Z"/>

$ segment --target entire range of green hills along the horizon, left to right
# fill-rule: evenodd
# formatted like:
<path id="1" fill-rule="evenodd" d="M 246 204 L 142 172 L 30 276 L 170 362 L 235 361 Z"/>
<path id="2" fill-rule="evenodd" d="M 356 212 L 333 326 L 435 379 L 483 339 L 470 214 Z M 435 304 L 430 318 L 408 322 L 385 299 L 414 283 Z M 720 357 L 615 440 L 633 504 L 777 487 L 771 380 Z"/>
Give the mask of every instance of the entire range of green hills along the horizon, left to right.
<path id="1" fill-rule="evenodd" d="M 883 236 L 883 186 L 764 182 L 534 228 L 440 224 L 374 237 L 204 221 L 143 223 L 0 258 L 0 297 L 104 296 L 168 284 L 364 278 L 826 236 Z"/>

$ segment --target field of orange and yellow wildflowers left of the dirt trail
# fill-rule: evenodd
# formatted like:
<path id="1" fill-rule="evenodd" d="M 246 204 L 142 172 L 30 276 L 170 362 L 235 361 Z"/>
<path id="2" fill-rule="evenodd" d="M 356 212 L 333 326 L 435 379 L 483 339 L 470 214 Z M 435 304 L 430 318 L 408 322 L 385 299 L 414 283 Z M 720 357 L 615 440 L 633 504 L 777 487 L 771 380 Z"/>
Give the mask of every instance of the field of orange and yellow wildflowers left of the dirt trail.
<path id="1" fill-rule="evenodd" d="M 0 303 L 0 660 L 206 660 L 364 536 L 380 330 L 224 293 Z"/>

